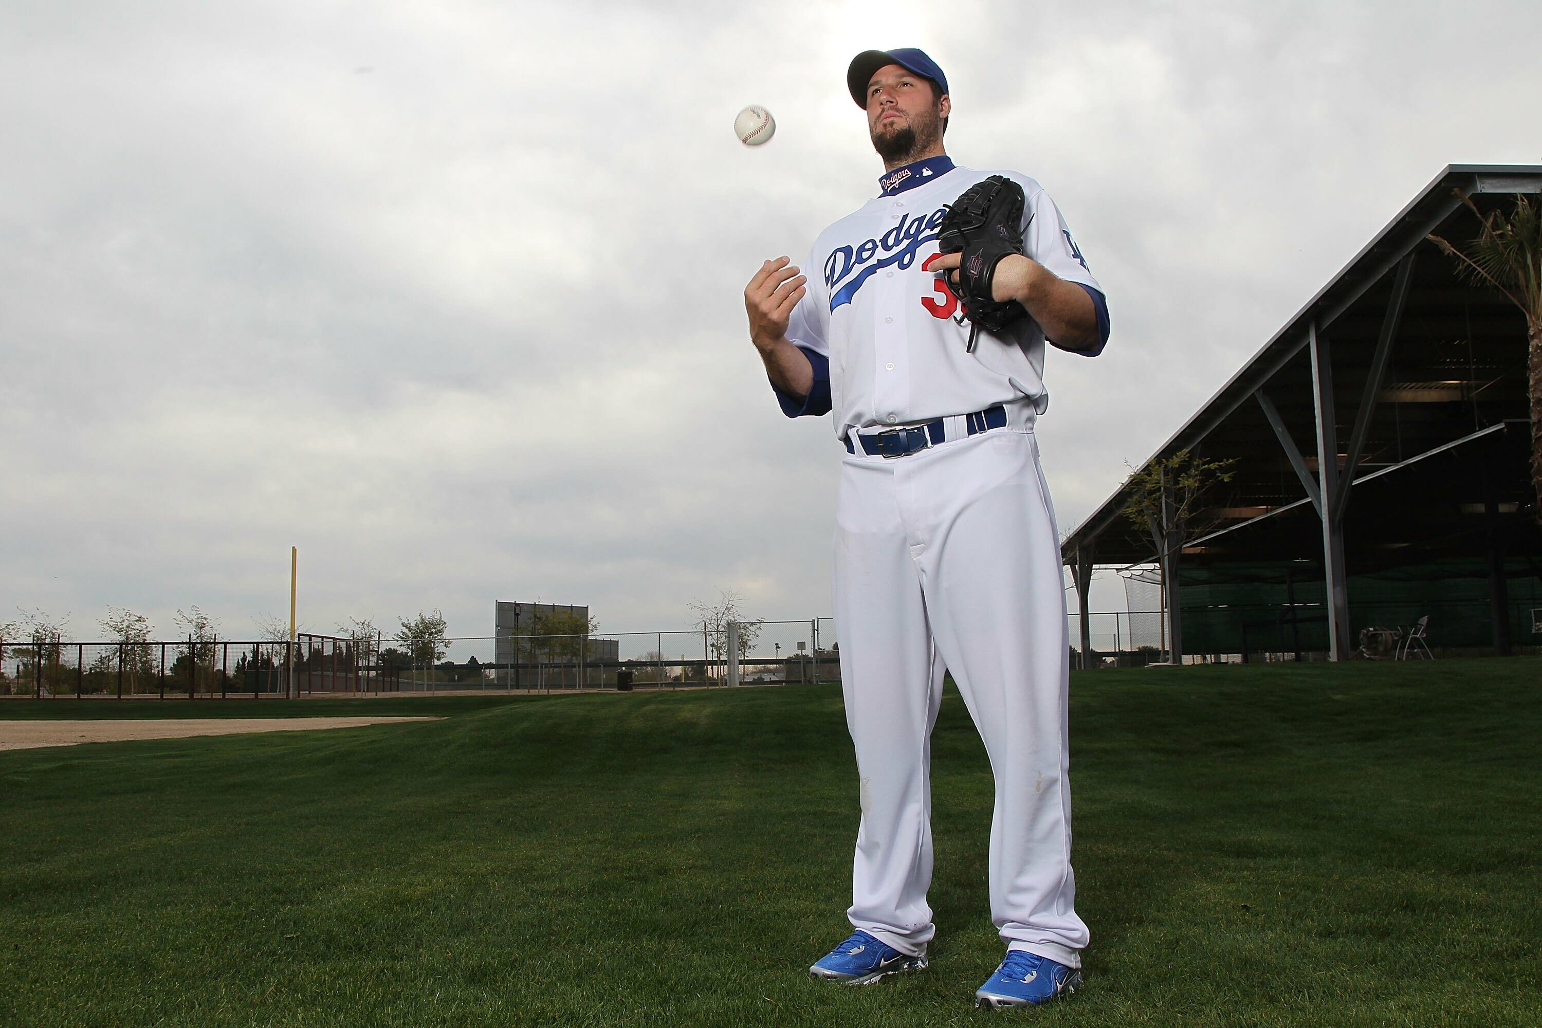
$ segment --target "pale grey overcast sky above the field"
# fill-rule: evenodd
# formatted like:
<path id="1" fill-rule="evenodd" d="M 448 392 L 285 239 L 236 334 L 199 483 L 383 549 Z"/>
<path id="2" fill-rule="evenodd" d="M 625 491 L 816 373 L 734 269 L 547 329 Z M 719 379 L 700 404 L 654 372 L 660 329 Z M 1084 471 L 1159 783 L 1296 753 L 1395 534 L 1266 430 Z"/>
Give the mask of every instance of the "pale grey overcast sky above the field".
<path id="1" fill-rule="evenodd" d="M 842 450 L 743 287 L 876 193 L 868 48 L 938 60 L 950 154 L 1035 176 L 1107 290 L 1045 373 L 1066 532 L 1446 163 L 1542 162 L 1539 11 L 5 0 L 0 621 L 250 637 L 290 546 L 321 630 L 828 613 Z"/>

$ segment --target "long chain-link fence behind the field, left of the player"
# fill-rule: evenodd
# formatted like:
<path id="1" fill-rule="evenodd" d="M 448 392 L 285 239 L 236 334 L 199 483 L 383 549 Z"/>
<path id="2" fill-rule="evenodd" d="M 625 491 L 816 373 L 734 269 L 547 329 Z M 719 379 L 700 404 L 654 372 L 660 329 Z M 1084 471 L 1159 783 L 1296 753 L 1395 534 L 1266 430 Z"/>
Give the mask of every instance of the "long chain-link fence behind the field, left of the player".
<path id="1" fill-rule="evenodd" d="M 728 632 L 444 637 L 412 646 L 382 633 L 288 641 L 0 640 L 0 695 L 282 698 L 305 695 L 584 692 L 839 681 L 830 618 L 743 623 Z"/>

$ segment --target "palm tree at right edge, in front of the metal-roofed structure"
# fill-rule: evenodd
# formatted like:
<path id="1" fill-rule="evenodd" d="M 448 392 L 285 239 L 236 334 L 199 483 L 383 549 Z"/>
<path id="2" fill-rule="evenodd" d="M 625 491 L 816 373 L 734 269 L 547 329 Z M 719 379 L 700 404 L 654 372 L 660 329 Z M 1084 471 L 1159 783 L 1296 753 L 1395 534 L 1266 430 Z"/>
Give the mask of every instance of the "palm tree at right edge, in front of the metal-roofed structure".
<path id="1" fill-rule="evenodd" d="M 1494 287 L 1527 317 L 1527 396 L 1531 401 L 1531 489 L 1537 522 L 1542 522 L 1542 205 L 1516 196 L 1516 210 L 1505 217 L 1496 210 L 1486 217 L 1460 191 L 1457 196 L 1483 225 L 1479 236 L 1457 250 L 1440 236 L 1429 236 L 1456 257 L 1473 282 Z"/>

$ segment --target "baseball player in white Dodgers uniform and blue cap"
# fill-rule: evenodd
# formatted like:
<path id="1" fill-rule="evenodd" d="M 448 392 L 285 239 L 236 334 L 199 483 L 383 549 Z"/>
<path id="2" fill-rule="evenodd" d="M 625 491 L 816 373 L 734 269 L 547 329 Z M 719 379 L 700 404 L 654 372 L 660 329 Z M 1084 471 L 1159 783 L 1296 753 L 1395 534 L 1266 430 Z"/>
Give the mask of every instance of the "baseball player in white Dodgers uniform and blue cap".
<path id="1" fill-rule="evenodd" d="M 951 670 L 996 778 L 990 908 L 1007 954 L 976 1005 L 1042 1003 L 1081 983 L 1087 926 L 1070 866 L 1059 536 L 1033 425 L 1045 341 L 1099 353 L 1107 305 L 1049 194 L 995 173 L 1022 188 L 1022 245 L 985 277 L 1024 316 L 970 348 L 950 288 L 961 254 L 939 253 L 938 230 L 993 173 L 945 154 L 948 83 L 922 51 L 857 54 L 847 86 L 884 159 L 879 196 L 819 236 L 806 270 L 766 260 L 745 288 L 782 410 L 831 413 L 845 448 L 834 615 L 862 820 L 854 932 L 810 973 L 857 985 L 927 966 L 928 738 Z"/>

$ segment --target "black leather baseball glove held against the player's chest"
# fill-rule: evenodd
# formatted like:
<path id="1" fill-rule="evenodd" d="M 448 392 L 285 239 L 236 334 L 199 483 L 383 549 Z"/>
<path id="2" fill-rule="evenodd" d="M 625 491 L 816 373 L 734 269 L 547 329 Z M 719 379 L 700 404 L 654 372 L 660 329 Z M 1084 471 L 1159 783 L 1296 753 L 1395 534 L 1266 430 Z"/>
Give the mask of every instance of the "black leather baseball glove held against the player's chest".
<path id="1" fill-rule="evenodd" d="M 947 274 L 947 284 L 971 322 L 970 353 L 981 328 L 1002 331 L 1027 316 L 1022 304 L 999 302 L 990 294 L 1001 259 L 1022 253 L 1022 186 L 993 174 L 964 190 L 938 227 L 938 248 L 961 254 L 958 270 Z"/>

